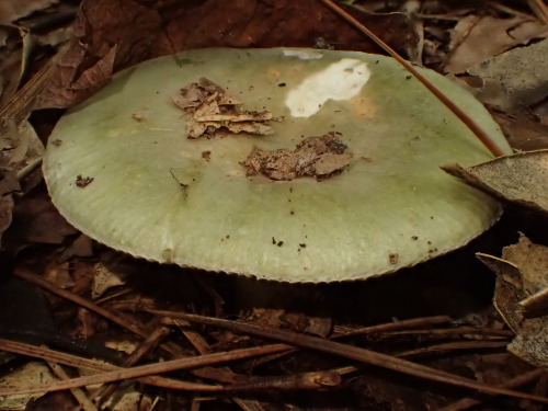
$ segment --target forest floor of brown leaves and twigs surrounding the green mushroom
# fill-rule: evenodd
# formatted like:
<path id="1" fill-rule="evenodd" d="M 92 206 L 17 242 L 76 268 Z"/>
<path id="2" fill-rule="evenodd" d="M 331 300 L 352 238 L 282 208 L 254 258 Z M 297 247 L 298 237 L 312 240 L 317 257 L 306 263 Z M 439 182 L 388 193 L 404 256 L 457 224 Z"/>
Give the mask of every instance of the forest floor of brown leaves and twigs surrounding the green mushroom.
<path id="1" fill-rule="evenodd" d="M 546 264 L 546 213 L 505 203 L 463 249 L 316 285 L 134 259 L 58 214 L 38 167 L 48 136 L 119 70 L 202 47 L 385 54 L 319 0 L 228 3 L 0 4 L 0 410 L 544 409 L 546 293 L 540 336 L 521 334 L 524 319 L 500 307 L 512 296 L 495 308 L 504 286 L 476 253 L 500 256 L 523 233 L 535 254 L 518 256 Z M 548 148 L 543 1 L 344 3 L 406 59 L 473 93 L 514 150 Z"/>

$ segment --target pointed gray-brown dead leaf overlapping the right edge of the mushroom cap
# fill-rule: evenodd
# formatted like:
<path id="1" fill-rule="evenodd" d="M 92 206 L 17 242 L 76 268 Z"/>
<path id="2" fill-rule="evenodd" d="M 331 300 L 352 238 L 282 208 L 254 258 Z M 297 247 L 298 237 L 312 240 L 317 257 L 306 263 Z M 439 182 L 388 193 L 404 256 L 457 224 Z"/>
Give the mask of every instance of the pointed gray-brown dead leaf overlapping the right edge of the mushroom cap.
<path id="1" fill-rule="evenodd" d="M 463 168 L 442 169 L 480 190 L 548 213 L 548 149 L 520 152 Z"/>

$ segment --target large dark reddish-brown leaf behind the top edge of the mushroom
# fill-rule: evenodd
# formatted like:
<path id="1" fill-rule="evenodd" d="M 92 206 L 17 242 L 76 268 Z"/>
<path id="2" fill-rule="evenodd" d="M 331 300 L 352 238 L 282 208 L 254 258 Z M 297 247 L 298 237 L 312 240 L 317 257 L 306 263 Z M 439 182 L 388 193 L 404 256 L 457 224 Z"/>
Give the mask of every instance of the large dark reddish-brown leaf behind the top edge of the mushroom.
<path id="1" fill-rule="evenodd" d="M 345 8 L 373 31 L 383 33 L 384 39 L 399 52 L 404 53 L 418 42 L 402 14 L 368 14 Z M 318 27 L 327 42 L 340 48 L 378 52 L 319 1 L 240 0 L 238 7 L 227 8 L 224 0 L 84 0 L 71 48 L 36 107 L 67 107 L 104 85 L 110 73 L 89 76 L 90 90 L 73 83 L 96 61 L 111 61 L 112 56 L 105 57 L 114 47 L 112 70 L 118 71 L 189 48 L 313 47 L 320 35 Z"/>

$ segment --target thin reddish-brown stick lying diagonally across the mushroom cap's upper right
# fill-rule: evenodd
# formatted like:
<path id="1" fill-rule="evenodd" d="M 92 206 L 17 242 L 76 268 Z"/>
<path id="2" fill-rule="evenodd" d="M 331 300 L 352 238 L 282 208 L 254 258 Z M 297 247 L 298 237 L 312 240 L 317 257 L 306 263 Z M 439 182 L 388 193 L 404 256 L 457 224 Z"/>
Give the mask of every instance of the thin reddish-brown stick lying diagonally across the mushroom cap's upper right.
<path id="1" fill-rule="evenodd" d="M 375 42 L 380 48 L 383 48 L 386 53 L 388 53 L 391 57 L 393 57 L 400 65 L 402 65 L 410 73 L 412 73 L 426 89 L 429 89 L 442 103 L 444 103 L 447 109 L 449 109 L 455 115 L 460 118 L 463 123 L 466 124 L 468 128 L 480 139 L 480 141 L 486 146 L 489 151 L 494 157 L 505 156 L 505 152 L 491 139 L 489 134 L 487 134 L 464 110 L 461 110 L 458 105 L 456 105 L 447 95 L 445 95 L 438 88 L 432 84 L 424 76 L 422 76 L 419 71 L 416 71 L 413 66 L 404 58 L 402 58 L 396 50 L 393 50 L 388 44 L 383 42 L 375 33 L 373 33 L 369 28 L 359 23 L 352 15 L 342 10 L 339 5 L 333 3 L 331 0 L 320 0 L 331 10 L 333 10 L 341 18 L 346 20 L 350 24 L 356 27 L 359 32 L 369 37 L 373 42 Z"/>

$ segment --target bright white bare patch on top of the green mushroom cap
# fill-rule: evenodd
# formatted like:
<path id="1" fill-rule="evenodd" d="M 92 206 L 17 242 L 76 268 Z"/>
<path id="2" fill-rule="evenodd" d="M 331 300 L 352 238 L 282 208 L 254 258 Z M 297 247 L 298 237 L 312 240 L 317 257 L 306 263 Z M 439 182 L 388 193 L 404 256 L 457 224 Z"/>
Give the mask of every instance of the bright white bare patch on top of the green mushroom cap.
<path id="1" fill-rule="evenodd" d="M 310 117 L 328 100 L 342 101 L 356 96 L 370 75 L 364 61 L 343 58 L 289 90 L 285 105 L 294 117 Z"/>

